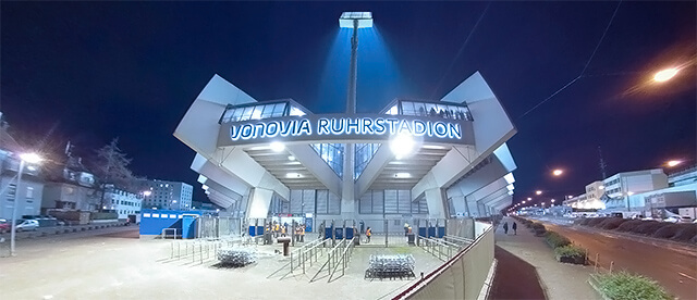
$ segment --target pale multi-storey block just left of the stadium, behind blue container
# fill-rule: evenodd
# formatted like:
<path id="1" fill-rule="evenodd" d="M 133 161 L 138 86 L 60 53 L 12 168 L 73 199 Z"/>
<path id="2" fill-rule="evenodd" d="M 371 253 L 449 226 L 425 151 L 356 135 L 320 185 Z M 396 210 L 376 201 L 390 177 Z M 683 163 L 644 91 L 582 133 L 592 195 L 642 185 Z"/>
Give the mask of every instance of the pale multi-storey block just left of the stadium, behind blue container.
<path id="1" fill-rule="evenodd" d="M 147 209 L 191 210 L 194 187 L 179 182 L 143 180 L 143 205 Z"/>

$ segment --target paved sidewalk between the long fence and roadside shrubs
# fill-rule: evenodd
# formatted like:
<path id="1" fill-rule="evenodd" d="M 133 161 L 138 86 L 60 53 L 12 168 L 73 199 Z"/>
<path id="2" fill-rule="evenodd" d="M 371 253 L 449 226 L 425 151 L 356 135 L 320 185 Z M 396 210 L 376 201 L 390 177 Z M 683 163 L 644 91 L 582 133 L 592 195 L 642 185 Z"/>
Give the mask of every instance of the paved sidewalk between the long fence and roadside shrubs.
<path id="1" fill-rule="evenodd" d="M 504 217 L 496 228 L 496 245 L 513 255 L 533 265 L 540 278 L 547 299 L 598 299 L 588 278 L 592 266 L 559 263 L 553 250 L 540 237 L 536 237 L 529 228 L 518 224 L 517 235 L 511 229 L 515 220 Z M 509 223 L 509 235 L 503 233 L 503 223 Z M 514 272 L 499 264 L 498 273 Z M 502 275 L 503 276 L 503 275 Z M 529 276 L 521 274 L 521 276 Z"/>

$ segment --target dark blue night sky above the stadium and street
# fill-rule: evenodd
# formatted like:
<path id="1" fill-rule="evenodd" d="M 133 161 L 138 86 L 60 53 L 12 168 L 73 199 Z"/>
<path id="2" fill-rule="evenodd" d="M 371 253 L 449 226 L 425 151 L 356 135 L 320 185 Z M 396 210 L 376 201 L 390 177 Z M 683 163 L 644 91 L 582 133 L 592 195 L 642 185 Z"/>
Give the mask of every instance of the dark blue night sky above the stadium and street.
<path id="1" fill-rule="evenodd" d="M 0 111 L 14 136 L 53 158 L 68 140 L 88 157 L 120 137 L 134 173 L 189 183 L 194 200 L 194 151 L 172 133 L 204 86 L 219 74 L 257 100 L 343 111 L 343 11 L 376 24 L 359 37 L 358 112 L 440 99 L 481 72 L 518 129 L 515 201 L 582 193 L 601 178 L 598 146 L 608 175 L 696 162 L 695 1 L 622 2 L 601 43 L 617 2 L 0 5 Z M 646 84 L 670 66 L 675 78 Z"/>

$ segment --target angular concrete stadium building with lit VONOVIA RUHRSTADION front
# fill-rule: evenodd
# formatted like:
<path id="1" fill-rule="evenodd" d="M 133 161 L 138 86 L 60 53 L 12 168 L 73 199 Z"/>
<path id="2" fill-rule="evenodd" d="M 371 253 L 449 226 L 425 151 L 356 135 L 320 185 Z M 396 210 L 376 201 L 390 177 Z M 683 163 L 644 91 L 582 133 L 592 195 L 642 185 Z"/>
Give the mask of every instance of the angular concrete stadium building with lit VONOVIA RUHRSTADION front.
<path id="1" fill-rule="evenodd" d="M 257 101 L 218 75 L 174 136 L 210 200 L 233 216 L 486 217 L 509 207 L 510 117 L 477 72 L 440 100 L 321 114 Z M 318 223 L 317 223 L 318 224 Z"/>

